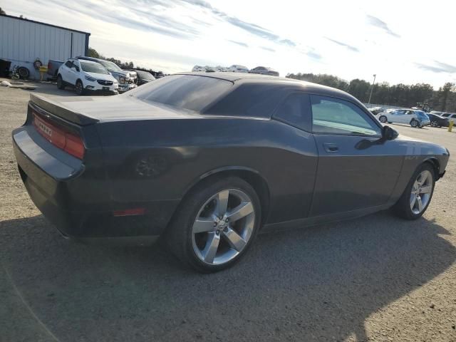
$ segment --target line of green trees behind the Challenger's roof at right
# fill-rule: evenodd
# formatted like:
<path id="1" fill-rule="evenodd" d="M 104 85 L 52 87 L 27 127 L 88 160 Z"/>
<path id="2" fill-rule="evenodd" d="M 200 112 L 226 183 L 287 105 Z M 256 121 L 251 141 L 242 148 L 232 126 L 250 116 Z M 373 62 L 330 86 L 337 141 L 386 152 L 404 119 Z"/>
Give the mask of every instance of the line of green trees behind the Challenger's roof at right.
<path id="1" fill-rule="evenodd" d="M 289 73 L 286 77 L 344 90 L 363 103 L 368 102 L 372 87 L 371 83 L 358 78 L 347 82 L 326 73 Z M 409 108 L 415 107 L 418 103 L 427 103 L 431 110 L 456 112 L 456 86 L 455 83 L 447 82 L 438 90 L 434 90 L 427 83 L 399 83 L 390 86 L 389 83 L 383 82 L 373 86 L 371 103 Z"/>

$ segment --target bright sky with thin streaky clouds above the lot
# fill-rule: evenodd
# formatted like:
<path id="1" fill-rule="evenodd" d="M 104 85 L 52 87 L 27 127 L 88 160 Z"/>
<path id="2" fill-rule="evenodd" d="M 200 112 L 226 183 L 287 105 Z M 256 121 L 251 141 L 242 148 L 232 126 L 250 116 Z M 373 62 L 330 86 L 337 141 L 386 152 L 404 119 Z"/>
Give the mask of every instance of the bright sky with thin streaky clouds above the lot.
<path id="1" fill-rule="evenodd" d="M 269 66 L 346 81 L 456 82 L 456 1 L 0 0 L 6 14 L 90 32 L 104 56 L 165 73 Z"/>

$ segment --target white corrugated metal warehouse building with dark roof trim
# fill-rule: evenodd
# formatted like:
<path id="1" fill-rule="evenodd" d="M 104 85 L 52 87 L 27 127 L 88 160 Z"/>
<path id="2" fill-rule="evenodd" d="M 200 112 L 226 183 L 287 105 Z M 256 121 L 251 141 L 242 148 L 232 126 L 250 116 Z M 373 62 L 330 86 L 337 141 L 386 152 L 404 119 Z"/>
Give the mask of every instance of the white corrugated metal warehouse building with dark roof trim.
<path id="1" fill-rule="evenodd" d="M 0 15 L 0 59 L 25 66 L 31 79 L 39 72 L 33 62 L 38 58 L 43 66 L 50 59 L 65 61 L 88 54 L 90 33 L 61 26 L 41 23 L 17 16 Z"/>

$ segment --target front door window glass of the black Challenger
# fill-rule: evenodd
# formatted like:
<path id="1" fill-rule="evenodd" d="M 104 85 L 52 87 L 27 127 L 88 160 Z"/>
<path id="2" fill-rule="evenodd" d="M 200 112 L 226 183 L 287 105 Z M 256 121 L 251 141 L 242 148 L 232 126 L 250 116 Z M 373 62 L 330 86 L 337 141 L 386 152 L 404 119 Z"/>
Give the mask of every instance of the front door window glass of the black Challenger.
<path id="1" fill-rule="evenodd" d="M 381 135 L 366 113 L 351 102 L 320 95 L 310 95 L 314 133 Z"/>

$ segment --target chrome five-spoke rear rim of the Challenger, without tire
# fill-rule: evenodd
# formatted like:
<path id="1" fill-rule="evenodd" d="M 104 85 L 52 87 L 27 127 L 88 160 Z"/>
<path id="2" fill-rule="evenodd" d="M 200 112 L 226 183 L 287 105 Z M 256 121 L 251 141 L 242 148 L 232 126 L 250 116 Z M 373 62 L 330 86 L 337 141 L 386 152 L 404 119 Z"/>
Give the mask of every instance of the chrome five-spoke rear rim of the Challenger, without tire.
<path id="1" fill-rule="evenodd" d="M 254 224 L 249 195 L 238 189 L 222 190 L 199 209 L 192 227 L 193 251 L 205 264 L 224 264 L 246 247 Z"/>

